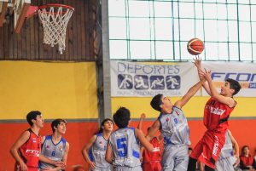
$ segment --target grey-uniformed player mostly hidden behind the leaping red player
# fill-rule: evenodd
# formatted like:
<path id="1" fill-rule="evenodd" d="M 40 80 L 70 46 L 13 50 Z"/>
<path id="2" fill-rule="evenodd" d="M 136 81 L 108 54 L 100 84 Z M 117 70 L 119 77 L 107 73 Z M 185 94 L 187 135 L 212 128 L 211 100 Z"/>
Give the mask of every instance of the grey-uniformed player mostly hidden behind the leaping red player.
<path id="1" fill-rule="evenodd" d="M 233 154 L 233 146 L 235 152 Z M 234 171 L 234 164 L 239 163 L 239 146 L 236 139 L 232 136 L 230 130 L 226 132 L 226 140 L 220 151 L 218 162 L 216 162 L 215 171 Z"/>

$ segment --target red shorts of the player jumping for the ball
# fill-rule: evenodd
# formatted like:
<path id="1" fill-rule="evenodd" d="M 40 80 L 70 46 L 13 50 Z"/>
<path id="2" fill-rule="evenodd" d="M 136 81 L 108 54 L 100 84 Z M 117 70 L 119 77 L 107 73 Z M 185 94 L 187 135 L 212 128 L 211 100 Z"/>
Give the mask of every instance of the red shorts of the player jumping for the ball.
<path id="1" fill-rule="evenodd" d="M 208 167 L 215 168 L 220 151 L 225 143 L 225 134 L 216 134 L 207 131 L 201 140 L 195 145 L 190 157 L 198 159 Z"/>

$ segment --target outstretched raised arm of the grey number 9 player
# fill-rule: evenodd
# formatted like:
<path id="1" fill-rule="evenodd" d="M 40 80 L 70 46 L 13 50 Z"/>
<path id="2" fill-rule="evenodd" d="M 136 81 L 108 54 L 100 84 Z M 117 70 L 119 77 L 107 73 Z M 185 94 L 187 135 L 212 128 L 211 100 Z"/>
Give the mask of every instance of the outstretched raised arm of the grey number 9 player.
<path id="1" fill-rule="evenodd" d="M 183 105 L 186 105 L 191 97 L 195 95 L 199 88 L 201 88 L 203 83 L 205 83 L 204 79 L 196 83 L 192 88 L 189 88 L 189 91 L 183 96 L 183 98 L 181 100 L 177 100 L 174 105 L 181 109 Z"/>

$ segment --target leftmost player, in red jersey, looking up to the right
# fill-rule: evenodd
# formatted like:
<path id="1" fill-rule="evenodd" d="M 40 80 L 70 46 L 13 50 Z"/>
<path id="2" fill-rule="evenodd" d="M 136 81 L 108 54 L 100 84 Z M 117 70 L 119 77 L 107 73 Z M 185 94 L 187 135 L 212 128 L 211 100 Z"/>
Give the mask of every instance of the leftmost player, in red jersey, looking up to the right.
<path id="1" fill-rule="evenodd" d="M 38 171 L 38 161 L 41 152 L 41 136 L 39 130 L 44 127 L 44 118 L 40 111 L 31 111 L 26 115 L 26 121 L 31 128 L 24 131 L 10 149 L 15 158 L 15 171 Z M 53 162 L 46 157 L 40 160 L 54 165 L 62 163 Z"/>

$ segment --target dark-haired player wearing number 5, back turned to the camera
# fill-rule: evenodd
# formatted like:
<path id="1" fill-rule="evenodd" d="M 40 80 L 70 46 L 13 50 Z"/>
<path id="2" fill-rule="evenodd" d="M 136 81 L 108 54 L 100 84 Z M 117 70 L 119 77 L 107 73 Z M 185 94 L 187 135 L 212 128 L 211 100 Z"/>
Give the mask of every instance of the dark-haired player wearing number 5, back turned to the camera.
<path id="1" fill-rule="evenodd" d="M 141 130 L 128 127 L 131 114 L 125 107 L 115 112 L 113 121 L 119 129 L 109 137 L 106 161 L 113 164 L 114 171 L 142 171 L 139 142 L 148 151 L 154 151 L 153 145 L 146 140 Z"/>

